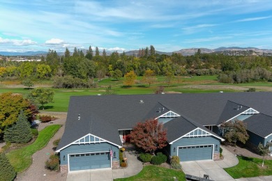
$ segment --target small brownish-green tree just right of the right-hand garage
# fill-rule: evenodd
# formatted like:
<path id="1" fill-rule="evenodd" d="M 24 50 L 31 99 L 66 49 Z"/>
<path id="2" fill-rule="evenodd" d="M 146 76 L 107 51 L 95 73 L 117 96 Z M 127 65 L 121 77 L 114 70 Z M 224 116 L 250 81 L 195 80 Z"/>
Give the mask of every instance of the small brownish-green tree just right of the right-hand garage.
<path id="1" fill-rule="evenodd" d="M 245 123 L 241 120 L 230 120 L 222 123 L 220 127 L 223 130 L 223 137 L 229 143 L 234 143 L 234 145 L 236 145 L 237 141 L 241 141 L 244 144 L 249 138 Z"/>

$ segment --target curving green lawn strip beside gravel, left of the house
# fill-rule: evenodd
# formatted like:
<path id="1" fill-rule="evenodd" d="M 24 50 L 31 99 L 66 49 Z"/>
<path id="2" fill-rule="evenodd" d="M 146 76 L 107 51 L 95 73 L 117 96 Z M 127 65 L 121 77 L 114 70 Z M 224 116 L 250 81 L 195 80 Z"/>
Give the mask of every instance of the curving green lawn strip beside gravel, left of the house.
<path id="1" fill-rule="evenodd" d="M 29 168 L 32 163 L 32 155 L 44 148 L 60 127 L 61 125 L 47 126 L 39 132 L 38 138 L 34 143 L 7 153 L 10 164 L 15 168 L 17 173 L 22 173 L 22 171 Z"/>

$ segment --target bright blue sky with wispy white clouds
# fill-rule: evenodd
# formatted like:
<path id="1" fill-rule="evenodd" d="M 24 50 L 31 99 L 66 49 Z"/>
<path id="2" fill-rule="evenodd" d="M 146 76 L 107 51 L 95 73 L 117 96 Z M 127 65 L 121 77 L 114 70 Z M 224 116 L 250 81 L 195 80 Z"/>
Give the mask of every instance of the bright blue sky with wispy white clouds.
<path id="1" fill-rule="evenodd" d="M 272 49 L 271 0 L 0 0 L 0 51 Z"/>

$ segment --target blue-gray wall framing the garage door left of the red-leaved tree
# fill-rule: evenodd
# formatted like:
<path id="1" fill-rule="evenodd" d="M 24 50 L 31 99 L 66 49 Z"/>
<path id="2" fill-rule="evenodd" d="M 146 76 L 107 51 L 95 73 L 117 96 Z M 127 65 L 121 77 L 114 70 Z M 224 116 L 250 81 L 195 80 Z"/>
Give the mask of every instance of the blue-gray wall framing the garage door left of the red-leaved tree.
<path id="1" fill-rule="evenodd" d="M 68 165 L 68 154 L 107 152 L 109 150 L 112 150 L 112 154 L 115 152 L 116 155 L 116 158 L 112 157 L 112 161 L 119 161 L 119 148 L 107 142 L 70 145 L 60 151 L 61 165 Z M 63 156 L 65 156 L 64 159 Z"/>

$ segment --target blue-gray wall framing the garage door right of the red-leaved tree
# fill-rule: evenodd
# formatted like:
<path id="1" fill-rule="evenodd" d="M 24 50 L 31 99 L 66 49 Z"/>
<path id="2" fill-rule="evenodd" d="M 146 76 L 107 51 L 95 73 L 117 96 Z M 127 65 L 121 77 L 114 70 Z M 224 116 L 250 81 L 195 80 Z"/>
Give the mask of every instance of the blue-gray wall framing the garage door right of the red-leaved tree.
<path id="1" fill-rule="evenodd" d="M 190 145 L 213 145 L 213 156 L 220 153 L 220 139 L 217 139 L 214 136 L 181 138 L 172 143 L 172 145 L 169 145 L 167 150 L 169 151 L 170 156 L 177 156 L 179 146 Z M 218 150 L 216 150 L 216 145 L 218 145 Z"/>

